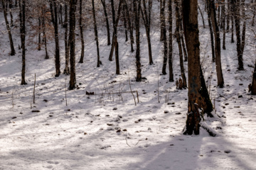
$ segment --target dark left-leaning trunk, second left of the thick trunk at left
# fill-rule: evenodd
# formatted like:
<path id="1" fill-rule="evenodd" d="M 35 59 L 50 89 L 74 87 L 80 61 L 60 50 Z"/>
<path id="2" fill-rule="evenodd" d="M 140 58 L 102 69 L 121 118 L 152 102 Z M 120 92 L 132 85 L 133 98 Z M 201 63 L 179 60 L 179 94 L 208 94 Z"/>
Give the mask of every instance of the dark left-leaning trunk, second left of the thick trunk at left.
<path id="1" fill-rule="evenodd" d="M 54 8 L 54 10 L 53 10 Z M 57 4 L 56 0 L 50 0 L 50 13 L 54 27 L 54 37 L 55 37 L 55 77 L 60 76 L 60 47 L 58 39 L 58 16 L 57 16 Z"/>

